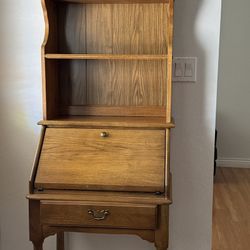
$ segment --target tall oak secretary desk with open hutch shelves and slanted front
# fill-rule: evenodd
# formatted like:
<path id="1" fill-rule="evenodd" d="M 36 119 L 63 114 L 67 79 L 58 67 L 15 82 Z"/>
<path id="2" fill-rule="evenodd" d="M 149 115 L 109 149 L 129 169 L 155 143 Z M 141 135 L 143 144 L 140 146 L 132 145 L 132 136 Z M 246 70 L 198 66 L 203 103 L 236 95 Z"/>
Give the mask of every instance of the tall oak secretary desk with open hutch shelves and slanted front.
<path id="1" fill-rule="evenodd" d="M 134 234 L 168 247 L 173 0 L 42 0 L 43 120 L 30 240 Z M 118 249 L 117 249 L 118 250 Z"/>

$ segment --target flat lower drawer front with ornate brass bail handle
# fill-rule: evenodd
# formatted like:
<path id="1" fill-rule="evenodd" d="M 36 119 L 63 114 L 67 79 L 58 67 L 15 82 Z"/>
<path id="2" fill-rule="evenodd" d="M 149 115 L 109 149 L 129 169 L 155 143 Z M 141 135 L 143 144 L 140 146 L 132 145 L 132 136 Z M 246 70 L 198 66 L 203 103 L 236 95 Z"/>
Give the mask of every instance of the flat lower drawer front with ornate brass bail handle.
<path id="1" fill-rule="evenodd" d="M 130 229 L 155 229 L 155 205 L 42 202 L 41 223 Z"/>

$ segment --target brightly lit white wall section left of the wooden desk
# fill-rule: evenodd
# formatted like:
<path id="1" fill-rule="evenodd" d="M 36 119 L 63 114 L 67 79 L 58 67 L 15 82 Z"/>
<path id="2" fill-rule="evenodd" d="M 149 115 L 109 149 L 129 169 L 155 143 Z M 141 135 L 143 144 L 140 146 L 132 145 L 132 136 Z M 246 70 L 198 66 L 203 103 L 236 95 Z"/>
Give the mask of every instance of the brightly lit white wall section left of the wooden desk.
<path id="1" fill-rule="evenodd" d="M 0 1 L 1 250 L 33 249 L 25 196 L 41 119 L 41 14 L 39 1 Z"/>

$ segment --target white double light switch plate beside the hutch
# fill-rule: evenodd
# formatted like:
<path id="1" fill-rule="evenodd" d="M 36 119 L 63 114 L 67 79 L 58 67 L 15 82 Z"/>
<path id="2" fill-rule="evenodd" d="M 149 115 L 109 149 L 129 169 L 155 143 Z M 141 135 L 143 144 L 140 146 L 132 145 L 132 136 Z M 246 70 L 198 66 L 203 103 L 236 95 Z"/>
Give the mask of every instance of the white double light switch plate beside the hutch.
<path id="1" fill-rule="evenodd" d="M 197 57 L 174 57 L 173 82 L 196 82 Z"/>

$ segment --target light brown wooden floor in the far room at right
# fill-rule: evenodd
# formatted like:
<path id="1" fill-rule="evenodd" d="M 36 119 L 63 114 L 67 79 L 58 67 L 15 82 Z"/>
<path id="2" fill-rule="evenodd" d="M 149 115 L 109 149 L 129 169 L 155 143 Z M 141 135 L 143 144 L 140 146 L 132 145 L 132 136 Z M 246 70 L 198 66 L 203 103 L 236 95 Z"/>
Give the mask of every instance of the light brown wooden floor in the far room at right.
<path id="1" fill-rule="evenodd" d="M 217 170 L 213 250 L 250 250 L 250 169 Z"/>

